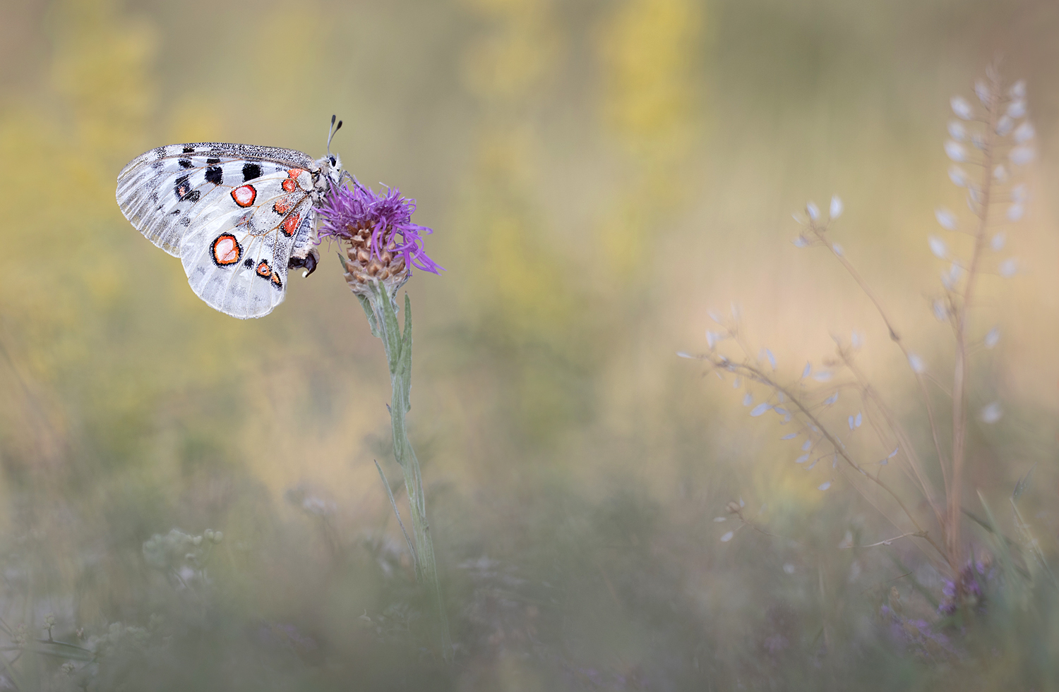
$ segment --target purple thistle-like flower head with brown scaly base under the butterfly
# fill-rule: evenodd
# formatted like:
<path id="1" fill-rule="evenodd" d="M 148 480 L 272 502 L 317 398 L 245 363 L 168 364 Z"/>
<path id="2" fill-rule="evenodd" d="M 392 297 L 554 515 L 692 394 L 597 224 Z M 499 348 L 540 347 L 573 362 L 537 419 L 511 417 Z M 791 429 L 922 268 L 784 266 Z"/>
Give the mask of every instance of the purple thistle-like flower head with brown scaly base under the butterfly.
<path id="1" fill-rule="evenodd" d="M 431 229 L 412 222 L 415 200 L 396 187 L 377 194 L 356 180 L 333 186 L 320 207 L 321 238 L 336 238 L 345 250 L 345 279 L 354 293 L 367 293 L 371 279 L 395 291 L 412 268 L 437 274 L 444 268 L 427 256 L 423 237 Z"/>

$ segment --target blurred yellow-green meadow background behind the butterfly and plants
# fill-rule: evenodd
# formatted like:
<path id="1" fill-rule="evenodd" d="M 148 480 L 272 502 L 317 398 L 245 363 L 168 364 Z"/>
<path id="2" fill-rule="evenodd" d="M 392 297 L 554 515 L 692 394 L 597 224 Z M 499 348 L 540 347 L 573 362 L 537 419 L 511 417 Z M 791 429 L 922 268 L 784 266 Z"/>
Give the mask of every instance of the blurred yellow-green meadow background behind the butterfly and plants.
<path id="1" fill-rule="evenodd" d="M 1051 0 L 3 3 L 0 689 L 1059 689 L 1054 588 L 940 644 L 910 630 L 945 575 L 913 540 L 840 547 L 897 532 L 677 357 L 733 304 L 792 381 L 862 330 L 929 456 L 908 363 L 834 258 L 791 244 L 791 212 L 842 197 L 832 236 L 951 378 L 927 237 L 964 208 L 949 98 L 998 54 L 1037 159 L 1022 271 L 985 276 L 973 313 L 1003 338 L 971 408 L 1004 416 L 973 418 L 965 507 L 981 490 L 1016 536 L 1034 469 L 1019 507 L 1053 559 Z M 319 157 L 333 113 L 346 168 L 417 200 L 447 270 L 406 289 L 452 666 L 373 463 L 396 484 L 385 359 L 334 249 L 240 322 L 114 202 L 146 149 Z"/>

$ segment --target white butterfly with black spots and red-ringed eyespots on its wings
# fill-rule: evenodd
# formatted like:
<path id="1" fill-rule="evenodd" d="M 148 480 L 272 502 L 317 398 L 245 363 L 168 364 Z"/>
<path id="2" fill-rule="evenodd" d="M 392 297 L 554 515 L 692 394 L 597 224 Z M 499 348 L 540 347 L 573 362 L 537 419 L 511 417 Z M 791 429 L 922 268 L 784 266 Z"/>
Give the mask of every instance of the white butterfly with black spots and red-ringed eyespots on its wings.
<path id="1" fill-rule="evenodd" d="M 330 153 L 199 142 L 141 153 L 118 175 L 118 205 L 132 226 L 180 257 L 192 290 L 240 320 L 283 303 L 287 270 L 316 269 L 317 211 L 342 181 Z M 348 174 L 345 174 L 348 175 Z"/>

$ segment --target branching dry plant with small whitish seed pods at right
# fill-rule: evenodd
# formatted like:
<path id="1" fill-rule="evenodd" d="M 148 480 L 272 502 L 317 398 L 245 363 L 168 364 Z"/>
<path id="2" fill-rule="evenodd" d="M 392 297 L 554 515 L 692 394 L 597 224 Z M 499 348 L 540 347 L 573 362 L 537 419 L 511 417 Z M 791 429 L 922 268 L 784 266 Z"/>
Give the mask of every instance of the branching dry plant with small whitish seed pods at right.
<path id="1" fill-rule="evenodd" d="M 1035 158 L 1033 124 L 1027 120 L 1026 87 L 1020 80 L 1010 87 L 1003 88 L 997 70 L 987 71 L 987 79 L 974 85 L 974 93 L 979 104 L 973 104 L 963 96 L 951 99 L 950 106 L 956 120 L 948 124 L 949 140 L 945 142 L 944 150 L 952 161 L 949 167 L 949 179 L 953 184 L 966 190 L 967 207 L 974 221 L 967 227 L 962 227 L 959 216 L 950 208 L 938 207 L 934 216 L 938 225 L 948 234 L 965 234 L 973 239 L 970 253 L 961 251 L 962 243 L 943 234 L 931 234 L 927 238 L 930 252 L 939 260 L 946 262 L 940 274 L 944 291 L 931 297 L 931 308 L 934 316 L 943 323 L 949 323 L 956 334 L 958 353 L 966 357 L 968 340 L 966 339 L 966 314 L 970 303 L 969 296 L 976 277 L 989 269 L 988 254 L 1001 253 L 1006 245 L 1003 230 L 998 230 L 1007 223 L 1021 220 L 1025 215 L 1028 201 L 1026 185 L 1018 182 L 1021 168 Z M 793 240 L 797 248 L 821 247 L 828 251 L 849 272 L 852 279 L 875 304 L 879 316 L 885 324 L 891 340 L 898 345 L 909 367 L 916 376 L 921 389 L 925 405 L 930 413 L 929 382 L 937 382 L 937 378 L 928 372 L 925 359 L 910 350 L 887 316 L 880 302 L 846 258 L 841 244 L 834 242 L 829 235 L 833 221 L 842 216 L 844 205 L 837 195 L 831 197 L 825 217 L 821 207 L 812 201 L 806 203 L 804 211 L 793 214 L 794 221 L 801 226 L 798 236 Z M 1021 265 L 1015 257 L 998 257 L 992 267 L 995 273 L 1003 277 L 1017 274 Z M 695 356 L 679 352 L 678 356 L 687 359 L 702 360 L 713 367 L 720 378 L 733 378 L 733 386 L 742 388 L 742 405 L 753 418 L 761 419 L 767 415 L 775 415 L 778 424 L 790 425 L 795 430 L 780 437 L 782 440 L 800 440 L 797 452 L 791 453 L 791 458 L 798 468 L 811 471 L 818 468 L 818 473 L 826 478 L 816 485 L 818 490 L 826 491 L 840 478 L 847 481 L 873 482 L 876 487 L 890 494 L 904 512 L 904 517 L 915 530 L 899 538 L 916 536 L 923 539 L 943 556 L 948 551 L 958 552 L 958 548 L 941 547 L 941 544 L 930 536 L 929 530 L 917 521 L 915 512 L 908 509 L 897 492 L 880 479 L 882 468 L 891 459 L 900 455 L 907 477 L 918 487 L 921 499 L 934 513 L 936 523 L 941 526 L 943 534 L 951 535 L 954 546 L 958 546 L 958 527 L 949 529 L 943 516 L 945 512 L 957 513 L 959 495 L 951 496 L 946 491 L 945 506 L 936 502 L 938 494 L 933 488 L 930 474 L 923 469 L 917 451 L 910 443 L 910 436 L 901 427 L 893 411 L 882 401 L 878 393 L 866 382 L 861 369 L 854 363 L 858 350 L 863 344 L 861 332 L 854 331 L 848 342 L 832 336 L 836 342 L 836 356 L 824 359 L 819 365 L 806 363 L 801 375 L 793 380 L 782 381 L 777 376 L 776 357 L 769 348 L 761 348 L 756 359 L 752 356 L 754 349 L 742 340 L 739 331 L 739 314 L 733 307 L 732 321 L 725 322 L 719 314 L 710 313 L 718 325 L 705 332 L 708 351 Z M 724 342 L 734 342 L 744 357 L 734 360 L 721 351 Z M 986 349 L 994 348 L 1000 342 L 999 328 L 992 328 L 981 342 L 974 345 Z M 732 349 L 736 350 L 735 348 Z M 966 363 L 966 358 L 959 362 Z M 966 368 L 966 365 L 963 367 Z M 793 374 L 792 374 L 793 376 Z M 966 378 L 957 378 L 964 382 Z M 840 404 L 839 394 L 848 391 L 852 396 L 843 395 Z M 963 396 L 963 390 L 954 395 Z M 857 401 L 859 399 L 859 402 Z M 849 403 L 846 403 L 849 401 Z M 859 403 L 859 405 L 858 405 Z M 841 411 L 843 404 L 849 406 Z M 995 423 L 1003 416 L 1000 402 L 993 401 L 979 411 L 977 419 L 984 423 Z M 845 425 L 841 422 L 845 419 Z M 953 435 L 964 435 L 966 416 L 953 414 Z M 856 435 L 864 423 L 875 432 L 876 440 L 858 450 L 879 448 L 879 456 L 862 458 L 862 453 L 847 449 L 846 442 Z M 930 455 L 935 456 L 943 465 L 943 471 L 949 465 L 950 473 L 958 474 L 963 458 L 946 459 L 943 448 L 938 443 L 938 430 L 935 427 L 933 414 L 930 415 L 935 449 Z M 846 430 L 847 429 L 847 430 Z M 856 456 L 856 458 L 855 458 Z M 881 457 L 881 458 L 880 458 Z M 824 463 L 820 463 L 824 461 Z M 958 487 L 959 484 L 954 484 Z M 741 505 L 741 503 L 740 503 Z M 953 509 L 955 508 L 955 509 Z M 729 511 L 742 517 L 739 507 Z M 715 522 L 726 521 L 718 516 Z M 726 531 L 720 541 L 726 543 L 733 539 L 735 531 Z M 956 536 L 956 538 L 952 538 Z M 889 545 L 889 541 L 883 542 Z M 881 544 L 880 544 L 881 545 Z M 951 556 L 950 556 L 951 557 Z M 946 558 L 948 560 L 948 558 Z M 949 560 L 952 564 L 952 560 Z"/>

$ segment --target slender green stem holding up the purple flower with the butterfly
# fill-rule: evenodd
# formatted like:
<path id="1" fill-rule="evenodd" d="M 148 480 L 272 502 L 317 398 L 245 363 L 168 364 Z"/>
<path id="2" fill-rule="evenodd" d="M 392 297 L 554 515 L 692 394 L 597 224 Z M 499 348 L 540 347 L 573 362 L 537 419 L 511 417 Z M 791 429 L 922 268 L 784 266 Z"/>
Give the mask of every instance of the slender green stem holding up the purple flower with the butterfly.
<path id="1" fill-rule="evenodd" d="M 419 472 L 419 460 L 412 449 L 412 442 L 408 439 L 408 426 L 405 421 L 405 415 L 412 407 L 409 398 L 412 388 L 412 301 L 406 293 L 402 331 L 397 322 L 397 305 L 394 296 L 379 281 L 373 281 L 370 288 L 370 295 L 357 294 L 357 297 L 367 314 L 372 333 L 381 339 L 385 346 L 387 360 L 390 364 L 390 384 L 393 387 L 390 421 L 393 425 L 394 456 L 397 457 L 397 463 L 405 474 L 405 490 L 408 492 L 408 504 L 412 512 L 412 534 L 415 539 L 415 554 L 412 559 L 415 563 L 415 576 L 434 601 L 441 625 L 442 655 L 446 661 L 451 662 L 452 641 L 449 637 L 449 620 L 442 598 L 442 584 L 437 578 L 437 564 L 434 562 L 434 542 L 430 538 L 430 524 L 427 522 L 423 474 Z M 400 521 L 400 515 L 397 518 Z"/>

